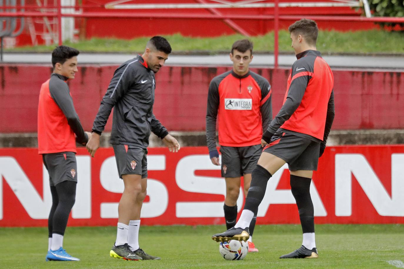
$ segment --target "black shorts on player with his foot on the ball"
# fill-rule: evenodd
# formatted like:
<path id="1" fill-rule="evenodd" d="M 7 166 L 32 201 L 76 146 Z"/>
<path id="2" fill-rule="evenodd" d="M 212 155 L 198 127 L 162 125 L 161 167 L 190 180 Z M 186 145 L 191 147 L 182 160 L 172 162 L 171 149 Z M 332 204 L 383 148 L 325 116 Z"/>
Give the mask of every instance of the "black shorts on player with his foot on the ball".
<path id="1" fill-rule="evenodd" d="M 276 132 L 263 152 L 286 161 L 290 171 L 317 170 L 320 143 L 288 133 Z"/>

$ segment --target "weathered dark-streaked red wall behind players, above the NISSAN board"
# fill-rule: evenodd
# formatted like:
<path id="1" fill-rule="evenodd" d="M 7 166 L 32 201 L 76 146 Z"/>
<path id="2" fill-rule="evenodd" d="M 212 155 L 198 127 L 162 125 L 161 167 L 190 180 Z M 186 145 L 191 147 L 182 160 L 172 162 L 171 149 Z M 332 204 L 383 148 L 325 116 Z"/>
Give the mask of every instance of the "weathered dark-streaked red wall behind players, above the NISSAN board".
<path id="1" fill-rule="evenodd" d="M 90 130 L 116 66 L 79 67 L 69 82 L 76 111 Z M 163 67 L 156 74 L 154 113 L 168 130 L 203 131 L 210 80 L 230 67 Z M 282 106 L 288 69 L 257 69 L 272 85 L 273 113 Z M 38 96 L 51 68 L 0 65 L 0 133 L 36 132 Z M 332 129 L 404 128 L 404 73 L 335 70 Z M 110 118 L 106 131 L 111 129 Z"/>

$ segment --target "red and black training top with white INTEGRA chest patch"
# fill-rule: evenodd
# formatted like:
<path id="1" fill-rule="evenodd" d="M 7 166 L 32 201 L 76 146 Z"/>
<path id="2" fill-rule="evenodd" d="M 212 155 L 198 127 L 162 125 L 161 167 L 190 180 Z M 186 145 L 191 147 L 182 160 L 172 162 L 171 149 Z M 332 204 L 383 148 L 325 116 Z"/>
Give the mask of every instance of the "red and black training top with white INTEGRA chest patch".
<path id="1" fill-rule="evenodd" d="M 271 85 L 248 71 L 239 76 L 227 71 L 210 81 L 206 111 L 206 140 L 216 149 L 216 119 L 219 144 L 243 147 L 261 144 L 263 130 L 272 119 Z"/>

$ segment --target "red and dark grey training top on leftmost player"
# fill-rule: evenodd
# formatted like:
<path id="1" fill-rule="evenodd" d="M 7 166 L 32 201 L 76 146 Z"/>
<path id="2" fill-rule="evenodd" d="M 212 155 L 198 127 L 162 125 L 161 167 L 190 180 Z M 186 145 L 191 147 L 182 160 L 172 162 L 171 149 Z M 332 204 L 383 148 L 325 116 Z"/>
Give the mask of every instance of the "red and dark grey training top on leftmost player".
<path id="1" fill-rule="evenodd" d="M 76 142 L 82 144 L 88 141 L 66 81 L 67 77 L 52 73 L 41 86 L 38 104 L 39 154 L 77 152 Z"/>

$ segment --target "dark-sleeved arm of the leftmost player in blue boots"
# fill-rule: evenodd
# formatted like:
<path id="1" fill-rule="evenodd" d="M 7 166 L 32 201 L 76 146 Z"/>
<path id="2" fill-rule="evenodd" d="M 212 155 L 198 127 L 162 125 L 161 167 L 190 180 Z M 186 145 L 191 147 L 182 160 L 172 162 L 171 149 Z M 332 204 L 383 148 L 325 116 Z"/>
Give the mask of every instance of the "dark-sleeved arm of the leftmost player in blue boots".
<path id="1" fill-rule="evenodd" d="M 63 81 L 60 81 L 60 83 L 58 81 L 56 85 L 53 84 L 49 87 L 49 92 L 50 96 L 63 111 L 70 128 L 76 134 L 76 142 L 80 144 L 87 143 L 88 135 L 84 132 L 80 119 L 74 109 L 72 96 L 70 96 L 67 84 Z"/>

